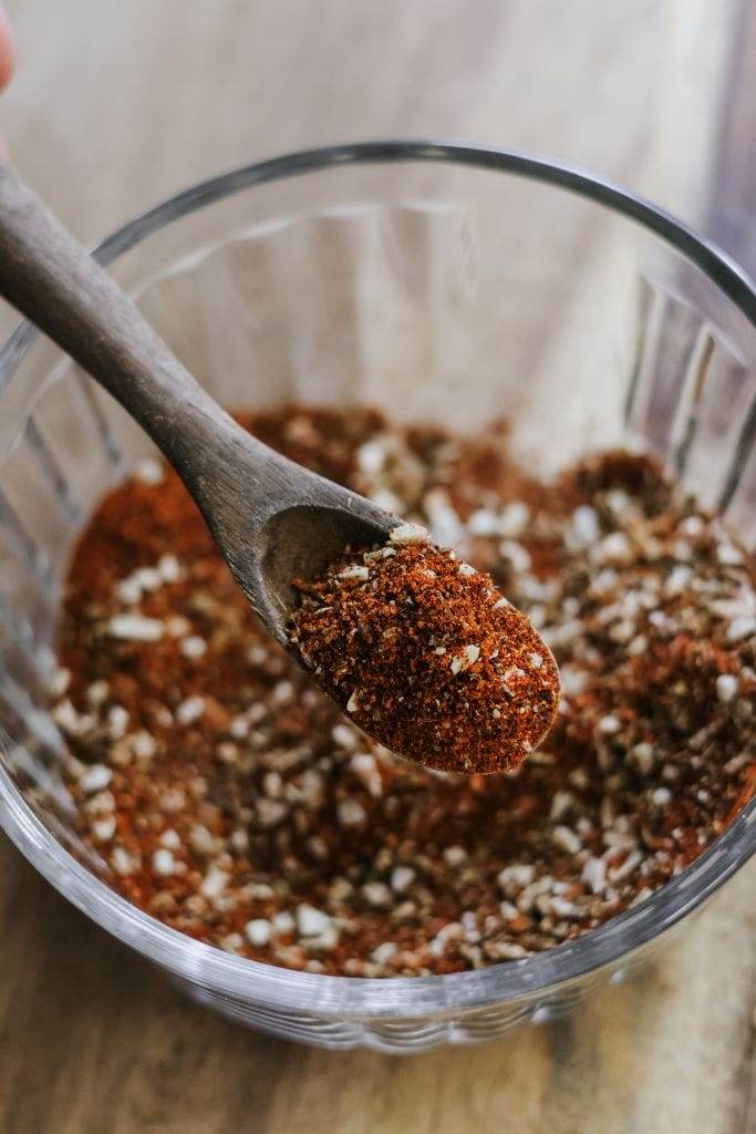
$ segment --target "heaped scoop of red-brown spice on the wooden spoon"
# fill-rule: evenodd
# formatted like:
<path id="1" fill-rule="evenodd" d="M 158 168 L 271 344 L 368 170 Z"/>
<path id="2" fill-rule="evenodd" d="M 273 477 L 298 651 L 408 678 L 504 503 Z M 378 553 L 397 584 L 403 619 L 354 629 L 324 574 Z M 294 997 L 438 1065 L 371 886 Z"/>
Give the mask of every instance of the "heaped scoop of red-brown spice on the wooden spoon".
<path id="1" fill-rule="evenodd" d="M 290 641 L 351 720 L 444 772 L 517 768 L 554 722 L 559 671 L 487 573 L 402 524 L 295 583 Z"/>

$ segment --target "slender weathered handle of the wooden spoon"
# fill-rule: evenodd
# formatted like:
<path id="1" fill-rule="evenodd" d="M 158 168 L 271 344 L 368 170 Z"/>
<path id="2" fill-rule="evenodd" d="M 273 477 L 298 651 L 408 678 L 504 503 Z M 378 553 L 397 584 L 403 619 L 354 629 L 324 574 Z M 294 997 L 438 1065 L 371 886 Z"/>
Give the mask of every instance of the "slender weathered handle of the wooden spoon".
<path id="1" fill-rule="evenodd" d="M 119 401 L 187 482 L 219 431 L 240 430 L 114 280 L 0 162 L 0 295 Z M 252 439 L 249 439 L 252 440 Z M 258 442 L 261 462 L 267 450 Z"/>

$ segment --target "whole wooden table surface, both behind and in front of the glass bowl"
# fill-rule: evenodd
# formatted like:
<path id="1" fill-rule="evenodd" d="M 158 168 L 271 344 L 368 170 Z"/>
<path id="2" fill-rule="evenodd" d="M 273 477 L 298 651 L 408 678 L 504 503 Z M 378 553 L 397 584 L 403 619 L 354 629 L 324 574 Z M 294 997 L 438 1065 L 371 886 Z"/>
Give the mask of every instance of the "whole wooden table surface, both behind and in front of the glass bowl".
<path id="1" fill-rule="evenodd" d="M 235 164 L 389 135 L 559 153 L 710 227 L 716 194 L 744 200 L 722 181 L 744 163 L 720 151 L 748 70 L 731 66 L 745 0 L 714 19 L 710 0 L 7 7 L 20 64 L 0 132 L 88 243 Z M 568 1021 L 398 1059 L 195 1008 L 3 840 L 0 1132 L 753 1134 L 755 881 L 744 870 L 653 967 Z"/>

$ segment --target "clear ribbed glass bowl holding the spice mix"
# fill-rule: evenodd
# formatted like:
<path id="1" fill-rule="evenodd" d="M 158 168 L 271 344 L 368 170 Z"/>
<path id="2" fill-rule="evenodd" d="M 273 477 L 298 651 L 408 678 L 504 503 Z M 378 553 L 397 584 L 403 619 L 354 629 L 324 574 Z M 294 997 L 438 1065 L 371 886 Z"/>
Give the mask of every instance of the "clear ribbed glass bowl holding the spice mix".
<path id="1" fill-rule="evenodd" d="M 642 435 L 754 544 L 753 287 L 598 178 L 468 146 L 338 146 L 198 185 L 96 254 L 227 405 L 366 400 L 459 430 L 507 414 L 544 473 Z M 45 683 L 71 543 L 147 449 L 65 356 L 18 328 L 0 356 L 0 822 L 61 894 L 196 1000 L 325 1047 L 486 1039 L 621 979 L 754 850 L 751 804 L 690 869 L 601 929 L 438 978 L 289 972 L 136 909 L 77 845 Z"/>

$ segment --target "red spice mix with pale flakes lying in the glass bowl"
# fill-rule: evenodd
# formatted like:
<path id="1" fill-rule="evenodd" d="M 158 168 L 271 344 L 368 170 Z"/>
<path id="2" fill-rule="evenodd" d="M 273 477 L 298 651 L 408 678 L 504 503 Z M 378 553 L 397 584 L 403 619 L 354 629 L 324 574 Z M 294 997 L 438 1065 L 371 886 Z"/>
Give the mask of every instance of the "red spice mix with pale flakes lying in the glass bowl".
<path id="1" fill-rule="evenodd" d="M 653 460 L 553 485 L 504 426 L 366 409 L 247 422 L 428 526 L 554 652 L 563 700 L 515 772 L 394 760 L 261 628 L 178 477 L 147 463 L 70 568 L 53 714 L 83 838 L 168 925 L 290 968 L 448 973 L 551 948 L 643 900 L 754 792 L 754 565 Z"/>

